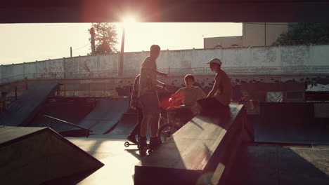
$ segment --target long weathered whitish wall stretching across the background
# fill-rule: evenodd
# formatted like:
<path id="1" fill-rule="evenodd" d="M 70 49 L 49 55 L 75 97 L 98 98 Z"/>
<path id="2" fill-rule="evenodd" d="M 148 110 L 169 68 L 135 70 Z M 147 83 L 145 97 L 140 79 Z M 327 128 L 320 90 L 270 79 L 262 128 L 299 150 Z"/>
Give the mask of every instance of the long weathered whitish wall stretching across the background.
<path id="1" fill-rule="evenodd" d="M 147 51 L 124 53 L 124 75 L 138 73 Z M 256 48 L 224 48 L 198 50 L 163 50 L 157 59 L 158 69 L 207 67 L 214 57 L 223 67 L 299 67 L 320 66 L 329 70 L 329 46 L 280 46 Z M 24 74 L 79 74 L 108 71 L 117 74 L 119 54 L 84 56 L 1 65 L 1 78 Z M 323 70 L 327 70 L 327 68 Z M 329 73 L 329 71 L 327 71 Z"/>

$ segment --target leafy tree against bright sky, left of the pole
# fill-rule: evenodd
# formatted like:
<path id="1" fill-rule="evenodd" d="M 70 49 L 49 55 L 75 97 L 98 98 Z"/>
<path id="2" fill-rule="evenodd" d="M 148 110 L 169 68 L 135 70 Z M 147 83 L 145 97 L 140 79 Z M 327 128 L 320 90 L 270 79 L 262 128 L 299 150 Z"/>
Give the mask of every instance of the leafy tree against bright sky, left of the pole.
<path id="1" fill-rule="evenodd" d="M 110 22 L 92 23 L 92 28 L 95 33 L 95 53 L 91 53 L 91 55 L 106 55 L 117 52 L 117 48 L 115 48 L 117 28 L 114 24 Z M 88 31 L 91 33 L 91 29 L 88 29 Z M 90 38 L 89 41 L 92 41 L 92 39 Z"/>

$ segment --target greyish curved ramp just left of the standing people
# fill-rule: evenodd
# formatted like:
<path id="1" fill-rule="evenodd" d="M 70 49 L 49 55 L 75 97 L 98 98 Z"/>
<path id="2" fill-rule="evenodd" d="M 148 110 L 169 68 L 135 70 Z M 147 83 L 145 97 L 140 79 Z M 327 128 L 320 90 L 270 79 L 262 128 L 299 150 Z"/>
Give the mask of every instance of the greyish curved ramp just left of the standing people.
<path id="1" fill-rule="evenodd" d="M 98 100 L 93 111 L 77 125 L 93 130 L 93 135 L 103 135 L 120 121 L 120 118 L 128 109 L 128 98 Z M 75 130 L 78 129 L 73 128 L 72 130 L 61 132 L 61 134 L 70 135 L 70 132 Z"/>

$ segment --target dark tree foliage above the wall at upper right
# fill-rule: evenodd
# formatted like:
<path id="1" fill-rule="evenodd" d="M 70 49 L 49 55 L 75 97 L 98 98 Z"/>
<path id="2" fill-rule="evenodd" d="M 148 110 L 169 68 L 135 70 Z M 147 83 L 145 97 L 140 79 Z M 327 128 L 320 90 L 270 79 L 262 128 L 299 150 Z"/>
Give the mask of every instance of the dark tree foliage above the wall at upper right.
<path id="1" fill-rule="evenodd" d="M 298 23 L 280 34 L 272 46 L 329 44 L 329 23 Z"/>

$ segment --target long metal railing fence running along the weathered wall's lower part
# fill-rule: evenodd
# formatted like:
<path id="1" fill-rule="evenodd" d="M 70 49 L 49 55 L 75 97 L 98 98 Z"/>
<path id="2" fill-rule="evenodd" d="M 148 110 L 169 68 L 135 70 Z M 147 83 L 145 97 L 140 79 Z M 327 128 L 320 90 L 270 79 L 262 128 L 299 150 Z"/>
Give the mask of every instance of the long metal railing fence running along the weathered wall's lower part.
<path id="1" fill-rule="evenodd" d="M 312 75 L 312 74 L 329 74 L 329 66 L 287 66 L 287 67 L 223 67 L 227 74 L 231 75 Z M 185 74 L 213 74 L 208 67 L 195 68 L 167 68 L 158 69 L 172 76 L 181 76 Z M 124 77 L 134 77 L 139 73 L 139 69 L 124 69 Z M 66 73 L 34 73 L 19 74 L 7 78 L 1 78 L 0 84 L 13 83 L 28 79 L 61 79 L 61 78 L 111 78 L 118 77 L 117 70 L 112 71 L 89 71 L 89 72 L 66 72 Z"/>

